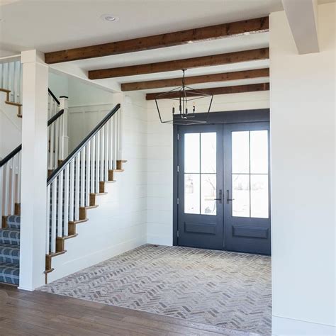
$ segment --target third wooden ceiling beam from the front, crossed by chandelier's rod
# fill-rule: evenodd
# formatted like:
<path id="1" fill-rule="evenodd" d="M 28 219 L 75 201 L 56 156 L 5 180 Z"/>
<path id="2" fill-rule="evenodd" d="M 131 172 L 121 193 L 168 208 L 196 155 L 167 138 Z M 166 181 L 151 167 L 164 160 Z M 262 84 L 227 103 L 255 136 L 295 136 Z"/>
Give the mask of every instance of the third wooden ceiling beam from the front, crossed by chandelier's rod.
<path id="1" fill-rule="evenodd" d="M 269 77 L 269 69 L 253 69 L 236 72 L 224 72 L 221 74 L 204 74 L 201 76 L 185 77 L 186 85 L 211 83 L 211 82 L 227 82 L 237 79 L 251 79 L 259 77 Z M 121 91 L 136 91 L 147 89 L 158 89 L 161 87 L 181 86 L 181 77 L 169 79 L 157 79 L 146 82 L 133 82 L 121 84 Z"/>

